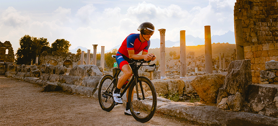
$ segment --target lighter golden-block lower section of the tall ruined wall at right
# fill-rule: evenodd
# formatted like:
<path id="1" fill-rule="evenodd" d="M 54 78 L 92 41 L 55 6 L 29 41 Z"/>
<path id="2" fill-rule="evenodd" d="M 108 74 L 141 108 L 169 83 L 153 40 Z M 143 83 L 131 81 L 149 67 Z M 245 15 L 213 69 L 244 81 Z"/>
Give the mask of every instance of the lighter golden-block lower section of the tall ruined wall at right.
<path id="1" fill-rule="evenodd" d="M 278 43 L 259 44 L 244 47 L 245 59 L 251 60 L 252 82 L 262 83 L 260 81 L 260 71 L 265 70 L 265 62 L 278 61 Z M 265 82 L 264 82 L 265 83 Z"/>

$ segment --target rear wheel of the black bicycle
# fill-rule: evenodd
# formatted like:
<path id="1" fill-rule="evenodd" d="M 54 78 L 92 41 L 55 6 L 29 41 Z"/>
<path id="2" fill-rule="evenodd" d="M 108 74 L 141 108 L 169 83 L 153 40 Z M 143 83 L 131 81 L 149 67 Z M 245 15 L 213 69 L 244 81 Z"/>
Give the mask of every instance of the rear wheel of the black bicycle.
<path id="1" fill-rule="evenodd" d="M 115 104 L 113 103 L 113 97 L 103 94 L 104 91 L 112 82 L 112 80 L 113 80 L 112 75 L 105 75 L 99 84 L 99 93 L 98 93 L 99 105 L 105 111 L 111 111 L 115 106 Z M 115 86 L 113 82 L 112 85 L 110 85 L 110 87 L 108 88 L 107 93 L 112 94 L 114 88 Z"/>

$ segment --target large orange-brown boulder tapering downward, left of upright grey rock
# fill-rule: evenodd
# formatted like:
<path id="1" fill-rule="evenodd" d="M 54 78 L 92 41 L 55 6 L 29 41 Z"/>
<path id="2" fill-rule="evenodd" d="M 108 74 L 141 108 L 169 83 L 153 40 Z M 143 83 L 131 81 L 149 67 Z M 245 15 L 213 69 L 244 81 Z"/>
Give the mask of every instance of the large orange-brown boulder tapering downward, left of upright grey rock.
<path id="1" fill-rule="evenodd" d="M 250 70 L 251 75 L 251 70 Z M 217 73 L 197 76 L 190 83 L 201 99 L 201 103 L 216 104 L 219 88 L 224 84 L 225 76 Z"/>

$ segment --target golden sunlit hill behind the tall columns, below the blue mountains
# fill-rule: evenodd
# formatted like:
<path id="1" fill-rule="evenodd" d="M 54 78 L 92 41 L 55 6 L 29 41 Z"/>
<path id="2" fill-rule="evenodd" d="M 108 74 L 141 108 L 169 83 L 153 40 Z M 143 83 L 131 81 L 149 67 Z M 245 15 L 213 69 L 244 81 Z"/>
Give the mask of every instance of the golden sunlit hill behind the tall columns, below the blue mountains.
<path id="1" fill-rule="evenodd" d="M 216 58 L 219 57 L 219 52 L 225 53 L 225 56 L 229 56 L 234 52 L 234 49 L 236 48 L 235 44 L 229 44 L 229 43 L 216 43 L 212 44 L 212 57 Z M 166 53 L 166 60 L 170 59 L 169 52 L 176 52 L 177 55 L 180 54 L 180 47 L 170 47 L 165 48 Z M 154 53 L 157 55 L 157 59 L 160 58 L 160 48 L 151 48 L 148 51 L 149 53 Z M 186 46 L 186 55 L 189 52 L 195 52 L 195 57 L 201 56 L 205 53 L 204 45 L 197 45 L 197 46 Z"/>

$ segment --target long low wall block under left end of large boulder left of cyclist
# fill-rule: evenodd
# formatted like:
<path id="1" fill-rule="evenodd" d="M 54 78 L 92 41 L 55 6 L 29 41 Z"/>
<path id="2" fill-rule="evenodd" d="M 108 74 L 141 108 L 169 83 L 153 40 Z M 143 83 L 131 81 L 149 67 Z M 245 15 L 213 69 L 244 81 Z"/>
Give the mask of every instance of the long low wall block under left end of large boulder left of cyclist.
<path id="1" fill-rule="evenodd" d="M 81 85 L 82 84 L 82 76 L 70 76 L 70 75 L 60 75 L 60 82 L 73 84 L 73 85 Z"/>

